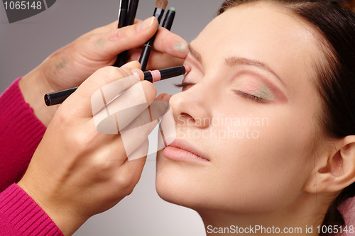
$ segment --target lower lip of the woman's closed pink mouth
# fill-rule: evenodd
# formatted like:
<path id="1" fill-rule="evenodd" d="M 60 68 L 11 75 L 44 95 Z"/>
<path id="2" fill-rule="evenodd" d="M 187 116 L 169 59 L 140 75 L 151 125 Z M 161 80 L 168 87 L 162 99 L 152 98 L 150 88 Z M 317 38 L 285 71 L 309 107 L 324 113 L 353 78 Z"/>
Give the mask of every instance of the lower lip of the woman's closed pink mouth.
<path id="1" fill-rule="evenodd" d="M 165 147 L 163 156 L 178 162 L 209 162 L 209 160 L 199 157 L 192 152 L 182 150 L 178 147 Z"/>

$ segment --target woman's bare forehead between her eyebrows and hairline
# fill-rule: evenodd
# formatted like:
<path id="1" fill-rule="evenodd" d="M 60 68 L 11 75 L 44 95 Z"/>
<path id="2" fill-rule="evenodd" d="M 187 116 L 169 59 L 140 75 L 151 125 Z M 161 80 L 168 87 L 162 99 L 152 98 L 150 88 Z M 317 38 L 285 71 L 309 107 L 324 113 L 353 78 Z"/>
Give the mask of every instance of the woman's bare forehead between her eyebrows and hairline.
<path id="1" fill-rule="evenodd" d="M 315 62 L 323 57 L 317 37 L 309 23 L 283 6 L 243 4 L 214 18 L 191 46 L 206 69 L 227 57 L 245 57 L 266 62 L 288 80 L 314 77 Z"/>

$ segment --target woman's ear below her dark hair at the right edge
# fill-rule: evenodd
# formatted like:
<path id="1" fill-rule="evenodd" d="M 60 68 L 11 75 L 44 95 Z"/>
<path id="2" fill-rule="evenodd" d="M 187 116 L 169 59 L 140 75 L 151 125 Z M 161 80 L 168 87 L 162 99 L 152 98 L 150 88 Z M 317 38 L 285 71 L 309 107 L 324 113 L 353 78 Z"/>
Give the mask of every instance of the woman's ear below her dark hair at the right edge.
<path id="1" fill-rule="evenodd" d="M 355 182 L 355 135 L 344 137 L 318 154 L 313 157 L 315 168 L 303 186 L 305 191 L 337 192 Z"/>

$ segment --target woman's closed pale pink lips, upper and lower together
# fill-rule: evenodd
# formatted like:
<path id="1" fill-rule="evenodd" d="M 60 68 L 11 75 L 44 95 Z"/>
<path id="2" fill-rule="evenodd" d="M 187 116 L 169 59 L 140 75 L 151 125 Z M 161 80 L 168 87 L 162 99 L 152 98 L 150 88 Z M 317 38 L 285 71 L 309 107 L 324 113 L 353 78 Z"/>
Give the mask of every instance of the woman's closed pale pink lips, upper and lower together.
<path id="1" fill-rule="evenodd" d="M 185 140 L 174 140 L 165 147 L 163 156 L 178 162 L 210 162 L 206 155 Z"/>

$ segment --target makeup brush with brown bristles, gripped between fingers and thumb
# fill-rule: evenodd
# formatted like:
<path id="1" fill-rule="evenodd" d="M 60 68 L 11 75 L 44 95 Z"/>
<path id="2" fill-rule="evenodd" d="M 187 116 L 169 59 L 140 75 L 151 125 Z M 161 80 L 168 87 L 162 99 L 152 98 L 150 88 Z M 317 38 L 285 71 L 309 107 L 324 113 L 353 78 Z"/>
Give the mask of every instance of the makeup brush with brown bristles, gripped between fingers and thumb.
<path id="1" fill-rule="evenodd" d="M 159 23 L 161 21 L 161 18 L 163 17 L 166 6 L 168 6 L 168 0 L 157 0 L 155 3 L 155 10 L 154 10 L 153 16 L 155 16 L 155 18 L 158 19 Z M 141 53 L 141 57 L 139 58 L 139 62 L 141 63 L 141 67 L 142 67 L 143 71 L 146 70 L 148 60 L 149 60 L 149 55 L 151 55 L 151 50 L 152 50 L 153 43 L 155 40 L 155 36 L 156 36 L 156 33 L 144 45 L 142 53 Z"/>

